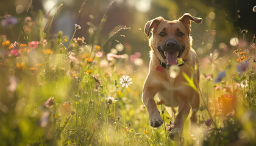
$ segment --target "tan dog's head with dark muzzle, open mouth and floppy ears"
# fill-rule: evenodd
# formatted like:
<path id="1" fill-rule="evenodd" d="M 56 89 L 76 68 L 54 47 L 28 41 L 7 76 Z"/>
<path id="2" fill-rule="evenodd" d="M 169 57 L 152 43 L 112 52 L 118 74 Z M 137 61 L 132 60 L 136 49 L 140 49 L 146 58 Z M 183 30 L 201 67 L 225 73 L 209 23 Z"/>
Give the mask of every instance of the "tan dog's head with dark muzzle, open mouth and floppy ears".
<path id="1" fill-rule="evenodd" d="M 187 54 L 191 47 L 190 21 L 200 24 L 201 18 L 185 13 L 174 21 L 167 21 L 157 17 L 146 23 L 144 32 L 149 37 L 149 46 L 155 53 L 160 54 L 167 64 L 176 64 L 177 58 Z"/>

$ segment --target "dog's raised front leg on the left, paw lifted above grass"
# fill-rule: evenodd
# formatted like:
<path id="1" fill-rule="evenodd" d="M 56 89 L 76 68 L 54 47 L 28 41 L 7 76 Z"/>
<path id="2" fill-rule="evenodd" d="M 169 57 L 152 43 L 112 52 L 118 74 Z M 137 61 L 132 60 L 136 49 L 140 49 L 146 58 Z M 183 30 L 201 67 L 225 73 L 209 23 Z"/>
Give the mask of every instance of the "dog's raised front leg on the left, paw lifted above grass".
<path id="1" fill-rule="evenodd" d="M 160 127 L 162 125 L 163 120 L 160 116 L 160 113 L 157 109 L 157 105 L 155 104 L 154 96 L 157 94 L 157 91 L 153 88 L 145 88 L 143 89 L 142 100 L 144 105 L 146 105 L 149 113 L 149 123 L 151 127 Z"/>

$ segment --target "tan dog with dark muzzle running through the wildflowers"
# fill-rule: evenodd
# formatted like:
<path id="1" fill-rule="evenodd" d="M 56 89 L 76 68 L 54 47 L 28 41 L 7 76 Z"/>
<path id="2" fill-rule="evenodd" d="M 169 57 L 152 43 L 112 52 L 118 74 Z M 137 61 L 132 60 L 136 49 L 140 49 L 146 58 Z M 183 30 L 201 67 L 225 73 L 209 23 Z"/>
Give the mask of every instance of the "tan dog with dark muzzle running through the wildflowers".
<path id="1" fill-rule="evenodd" d="M 184 82 L 187 81 L 182 75 L 182 72 L 188 77 L 193 74 L 194 83 L 198 87 L 199 71 L 193 72 L 191 69 L 198 63 L 196 52 L 191 48 L 191 21 L 200 24 L 202 19 L 191 16 L 189 13 L 185 13 L 181 18 L 174 21 L 167 21 L 158 17 L 148 21 L 144 28 L 148 37 L 152 30 L 152 36 L 149 39 L 151 60 L 149 74 L 143 87 L 143 103 L 148 108 L 151 127 L 160 127 L 163 123 L 154 101 L 155 94 L 158 94 L 160 100 L 166 105 L 169 114 L 171 107 L 179 106 L 174 128 L 169 134 L 172 140 L 180 139 L 183 124 L 190 113 L 190 108 L 192 107 L 193 111 L 191 121 L 194 122 L 196 122 L 196 111 L 199 108 L 197 92 L 190 86 L 184 85 Z M 178 58 L 183 60 L 183 63 L 179 65 L 180 73 L 176 78 L 171 78 L 168 68 L 177 64 Z"/>

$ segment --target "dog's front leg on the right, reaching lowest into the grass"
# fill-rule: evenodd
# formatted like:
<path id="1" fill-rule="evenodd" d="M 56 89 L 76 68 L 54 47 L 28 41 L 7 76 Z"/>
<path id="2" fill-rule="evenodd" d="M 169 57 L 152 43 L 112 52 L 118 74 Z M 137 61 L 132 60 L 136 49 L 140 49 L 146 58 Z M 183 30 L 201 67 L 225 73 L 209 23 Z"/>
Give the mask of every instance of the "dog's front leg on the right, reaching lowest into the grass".
<path id="1" fill-rule="evenodd" d="M 175 141 L 179 141 L 182 136 L 182 130 L 185 120 L 190 113 L 190 103 L 183 101 L 179 105 L 179 113 L 177 114 L 176 119 L 174 120 L 174 128 L 169 134 L 170 138 Z"/>

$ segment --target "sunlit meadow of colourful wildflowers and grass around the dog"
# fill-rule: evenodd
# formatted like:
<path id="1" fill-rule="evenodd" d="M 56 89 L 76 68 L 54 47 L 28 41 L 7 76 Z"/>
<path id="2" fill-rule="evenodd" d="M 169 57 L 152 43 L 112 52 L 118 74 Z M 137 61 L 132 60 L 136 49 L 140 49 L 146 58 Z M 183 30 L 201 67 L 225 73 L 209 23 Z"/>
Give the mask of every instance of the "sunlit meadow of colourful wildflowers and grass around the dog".
<path id="1" fill-rule="evenodd" d="M 74 37 L 83 29 L 75 23 L 71 38 L 52 34 L 55 15 L 44 23 L 49 16 L 41 10 L 35 18 L 1 18 L 0 145 L 256 145 L 255 36 L 241 30 L 242 39 L 222 44 L 229 47 L 224 53 L 200 58 L 197 124 L 188 118 L 182 141 L 174 142 L 175 115 L 158 104 L 165 123 L 152 128 L 141 101 L 149 57 L 117 39 L 132 28 L 119 27 L 99 41 L 109 7 L 90 38 Z"/>

